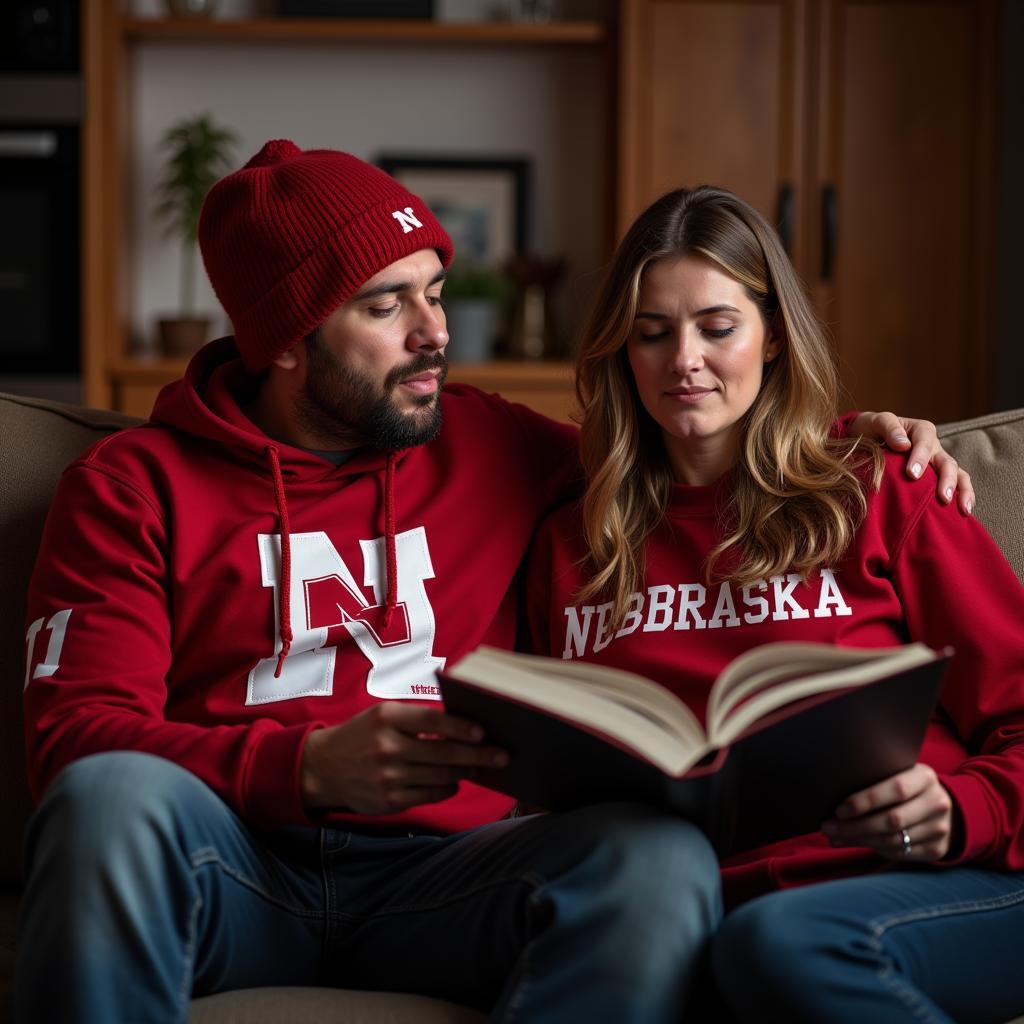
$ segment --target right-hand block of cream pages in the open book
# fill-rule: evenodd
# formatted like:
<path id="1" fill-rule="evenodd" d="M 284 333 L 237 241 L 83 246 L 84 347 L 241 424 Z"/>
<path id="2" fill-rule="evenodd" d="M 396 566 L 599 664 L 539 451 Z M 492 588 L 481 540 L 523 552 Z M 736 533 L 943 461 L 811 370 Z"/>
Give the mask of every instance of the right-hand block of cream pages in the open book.
<path id="1" fill-rule="evenodd" d="M 708 710 L 709 736 L 724 745 L 795 700 L 872 683 L 937 656 L 921 643 L 882 648 L 765 644 L 730 663 L 716 681 Z"/>

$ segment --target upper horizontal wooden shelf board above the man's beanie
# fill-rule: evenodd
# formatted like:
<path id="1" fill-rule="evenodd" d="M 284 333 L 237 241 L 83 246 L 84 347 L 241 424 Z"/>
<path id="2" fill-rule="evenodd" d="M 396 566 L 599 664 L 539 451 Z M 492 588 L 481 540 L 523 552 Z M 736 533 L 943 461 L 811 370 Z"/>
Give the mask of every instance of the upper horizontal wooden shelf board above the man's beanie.
<path id="1" fill-rule="evenodd" d="M 125 38 L 151 42 L 381 42 L 487 43 L 539 46 L 595 45 L 605 39 L 598 22 L 425 22 L 344 17 L 237 19 L 125 18 Z"/>

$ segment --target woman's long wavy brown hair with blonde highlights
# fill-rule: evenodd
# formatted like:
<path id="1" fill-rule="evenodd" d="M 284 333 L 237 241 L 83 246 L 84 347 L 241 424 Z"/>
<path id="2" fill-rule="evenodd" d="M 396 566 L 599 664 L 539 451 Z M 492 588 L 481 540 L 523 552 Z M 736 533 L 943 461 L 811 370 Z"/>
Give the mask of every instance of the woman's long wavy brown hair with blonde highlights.
<path id="1" fill-rule="evenodd" d="M 839 379 L 824 331 L 774 230 L 722 188 L 680 188 L 636 220 L 615 252 L 577 360 L 587 477 L 583 524 L 590 556 L 581 600 L 610 600 L 621 626 L 639 589 L 645 541 L 673 483 L 660 428 L 640 401 L 627 354 L 644 270 L 680 256 L 711 260 L 738 281 L 766 331 L 783 339 L 742 422 L 725 537 L 710 553 L 716 574 L 750 584 L 780 572 L 805 578 L 836 562 L 877 488 L 877 444 L 837 439 Z M 723 560 L 723 556 L 730 557 Z M 716 566 L 728 571 L 716 573 Z"/>

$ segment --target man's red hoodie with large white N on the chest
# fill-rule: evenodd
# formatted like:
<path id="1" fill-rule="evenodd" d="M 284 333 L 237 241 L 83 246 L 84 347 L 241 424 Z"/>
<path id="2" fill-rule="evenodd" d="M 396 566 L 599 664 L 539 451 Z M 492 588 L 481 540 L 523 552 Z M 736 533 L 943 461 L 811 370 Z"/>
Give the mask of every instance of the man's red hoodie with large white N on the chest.
<path id="1" fill-rule="evenodd" d="M 77 758 L 136 750 L 254 823 L 306 823 L 311 729 L 383 698 L 437 700 L 445 660 L 514 640 L 512 584 L 571 492 L 575 430 L 454 386 L 434 441 L 334 466 L 247 419 L 236 355 L 229 340 L 207 346 L 150 423 L 61 478 L 29 595 L 37 799 Z M 374 821 L 457 830 L 510 803 L 464 783 Z"/>

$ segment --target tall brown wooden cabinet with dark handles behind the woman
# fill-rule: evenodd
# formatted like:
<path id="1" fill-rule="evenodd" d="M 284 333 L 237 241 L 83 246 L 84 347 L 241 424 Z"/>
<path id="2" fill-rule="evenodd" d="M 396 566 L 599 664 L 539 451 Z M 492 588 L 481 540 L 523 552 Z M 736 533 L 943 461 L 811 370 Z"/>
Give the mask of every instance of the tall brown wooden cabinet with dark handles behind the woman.
<path id="1" fill-rule="evenodd" d="M 992 0 L 625 0 L 618 224 L 677 185 L 784 229 L 850 402 L 987 411 Z"/>

